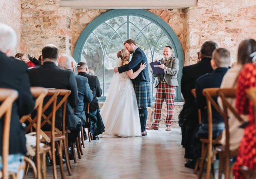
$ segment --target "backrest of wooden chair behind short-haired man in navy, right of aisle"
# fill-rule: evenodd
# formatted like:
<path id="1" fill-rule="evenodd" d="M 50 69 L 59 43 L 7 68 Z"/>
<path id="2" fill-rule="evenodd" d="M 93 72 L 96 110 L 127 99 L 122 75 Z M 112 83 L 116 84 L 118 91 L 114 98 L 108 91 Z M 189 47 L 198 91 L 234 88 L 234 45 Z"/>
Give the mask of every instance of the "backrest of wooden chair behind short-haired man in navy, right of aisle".
<path id="1" fill-rule="evenodd" d="M 220 109 L 219 105 L 213 100 L 212 97 L 218 96 L 218 91 L 220 88 L 206 88 L 203 90 L 203 95 L 206 97 L 206 107 L 207 107 L 207 113 L 208 113 L 208 137 L 209 141 L 212 142 L 212 106 L 216 109 L 218 113 L 223 117 L 223 112 Z"/>

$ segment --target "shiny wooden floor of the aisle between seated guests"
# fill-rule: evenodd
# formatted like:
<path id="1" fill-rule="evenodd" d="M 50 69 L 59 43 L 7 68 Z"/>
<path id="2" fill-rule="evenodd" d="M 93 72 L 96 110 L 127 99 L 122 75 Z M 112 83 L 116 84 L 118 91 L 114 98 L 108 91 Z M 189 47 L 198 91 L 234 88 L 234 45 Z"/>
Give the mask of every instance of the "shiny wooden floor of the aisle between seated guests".
<path id="1" fill-rule="evenodd" d="M 71 161 L 72 176 L 64 165 L 66 179 L 196 179 L 193 170 L 184 167 L 180 143 L 180 128 L 148 131 L 145 137 L 86 140 L 82 159 Z M 61 178 L 59 166 L 57 172 Z M 47 179 L 52 178 L 47 167 Z"/>

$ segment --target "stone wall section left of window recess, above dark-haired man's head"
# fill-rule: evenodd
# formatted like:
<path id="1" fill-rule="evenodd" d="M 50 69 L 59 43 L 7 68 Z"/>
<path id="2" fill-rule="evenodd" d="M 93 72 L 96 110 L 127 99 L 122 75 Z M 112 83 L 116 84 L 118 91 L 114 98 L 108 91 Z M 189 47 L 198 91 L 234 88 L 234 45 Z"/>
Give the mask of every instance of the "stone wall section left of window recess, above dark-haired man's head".
<path id="1" fill-rule="evenodd" d="M 73 10 L 60 8 L 59 0 L 21 0 L 21 51 L 38 58 L 42 47 L 54 44 L 70 54 Z"/>

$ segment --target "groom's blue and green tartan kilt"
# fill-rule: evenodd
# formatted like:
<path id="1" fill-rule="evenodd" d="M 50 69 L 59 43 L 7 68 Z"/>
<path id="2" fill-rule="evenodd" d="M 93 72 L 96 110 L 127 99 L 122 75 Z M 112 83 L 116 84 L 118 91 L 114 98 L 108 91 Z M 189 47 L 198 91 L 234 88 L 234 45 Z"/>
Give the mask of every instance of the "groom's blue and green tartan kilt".
<path id="1" fill-rule="evenodd" d="M 152 106 L 151 84 L 149 81 L 141 81 L 134 84 L 134 90 L 139 108 Z"/>

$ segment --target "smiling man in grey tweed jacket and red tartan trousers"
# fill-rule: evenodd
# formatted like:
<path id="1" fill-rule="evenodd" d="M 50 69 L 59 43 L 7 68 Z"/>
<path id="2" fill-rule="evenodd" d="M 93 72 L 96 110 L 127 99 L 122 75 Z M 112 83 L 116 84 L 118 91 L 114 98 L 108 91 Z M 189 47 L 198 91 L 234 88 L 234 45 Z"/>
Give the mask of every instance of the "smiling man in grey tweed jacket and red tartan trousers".
<path id="1" fill-rule="evenodd" d="M 157 88 L 155 98 L 155 110 L 153 124 L 148 127 L 148 130 L 158 130 L 158 126 L 161 120 L 161 109 L 164 100 L 167 104 L 167 116 L 166 116 L 166 129 L 171 130 L 172 118 L 174 114 L 174 98 L 176 94 L 176 87 L 179 86 L 177 74 L 179 72 L 179 59 L 172 57 L 173 49 L 170 46 L 166 46 L 163 50 L 164 58 L 160 60 L 161 65 L 159 68 L 164 69 L 164 73 L 154 74 L 156 77 L 155 88 Z M 157 61 L 157 59 L 155 59 Z M 154 78 L 153 78 L 154 83 Z"/>

